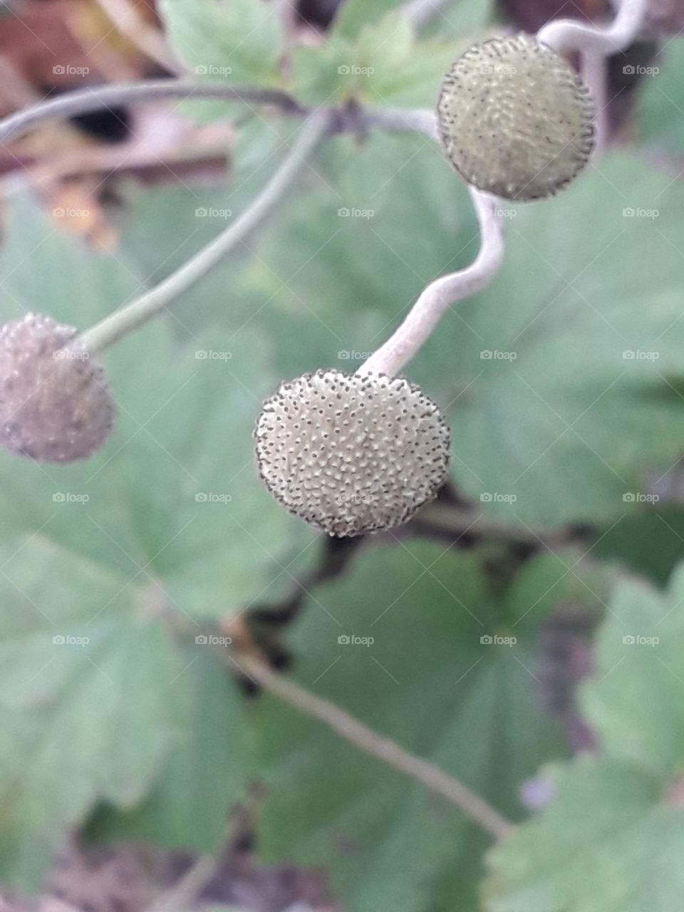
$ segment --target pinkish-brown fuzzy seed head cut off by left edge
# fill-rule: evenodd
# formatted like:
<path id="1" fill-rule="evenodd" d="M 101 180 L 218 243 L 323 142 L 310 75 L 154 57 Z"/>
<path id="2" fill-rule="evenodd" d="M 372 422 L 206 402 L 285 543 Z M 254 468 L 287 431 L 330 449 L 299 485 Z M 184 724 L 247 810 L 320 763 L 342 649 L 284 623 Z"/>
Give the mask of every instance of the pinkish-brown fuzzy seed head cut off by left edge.
<path id="1" fill-rule="evenodd" d="M 87 459 L 109 436 L 116 407 L 74 326 L 29 313 L 0 326 L 0 444 L 31 459 Z"/>

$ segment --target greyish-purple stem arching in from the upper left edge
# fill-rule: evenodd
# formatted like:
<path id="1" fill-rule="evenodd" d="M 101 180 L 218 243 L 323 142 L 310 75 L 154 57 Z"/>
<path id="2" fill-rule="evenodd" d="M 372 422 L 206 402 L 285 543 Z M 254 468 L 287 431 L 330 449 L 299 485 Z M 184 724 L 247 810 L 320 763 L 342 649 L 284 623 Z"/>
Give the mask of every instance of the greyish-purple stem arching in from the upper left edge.
<path id="1" fill-rule="evenodd" d="M 225 83 L 198 82 L 196 79 L 150 79 L 149 82 L 79 88 L 78 91 L 17 111 L 0 121 L 0 143 L 14 139 L 44 120 L 76 117 L 100 108 L 153 98 L 220 98 L 224 101 L 244 101 L 246 104 L 275 105 L 290 114 L 306 114 L 306 109 L 295 98 L 278 89 L 227 86 Z"/>

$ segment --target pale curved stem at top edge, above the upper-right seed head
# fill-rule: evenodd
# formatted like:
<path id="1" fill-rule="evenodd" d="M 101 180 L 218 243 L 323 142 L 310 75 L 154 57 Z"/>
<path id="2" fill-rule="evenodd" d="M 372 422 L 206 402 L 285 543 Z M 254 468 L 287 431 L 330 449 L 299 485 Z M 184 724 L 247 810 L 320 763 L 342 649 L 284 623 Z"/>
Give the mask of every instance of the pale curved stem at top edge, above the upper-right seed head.
<path id="1" fill-rule="evenodd" d="M 594 50 L 610 55 L 628 47 L 638 35 L 648 0 L 621 0 L 609 26 L 591 26 L 574 19 L 554 19 L 539 29 L 537 37 L 557 51 Z"/>

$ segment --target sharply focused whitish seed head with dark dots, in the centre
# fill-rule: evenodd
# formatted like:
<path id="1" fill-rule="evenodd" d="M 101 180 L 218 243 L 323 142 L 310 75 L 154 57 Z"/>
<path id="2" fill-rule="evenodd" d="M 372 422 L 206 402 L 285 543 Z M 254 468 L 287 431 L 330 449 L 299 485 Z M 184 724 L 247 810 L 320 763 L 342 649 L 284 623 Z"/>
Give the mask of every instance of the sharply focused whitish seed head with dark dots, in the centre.
<path id="1" fill-rule="evenodd" d="M 449 467 L 440 410 L 404 378 L 305 374 L 266 400 L 254 436 L 268 490 L 340 537 L 405 523 Z"/>

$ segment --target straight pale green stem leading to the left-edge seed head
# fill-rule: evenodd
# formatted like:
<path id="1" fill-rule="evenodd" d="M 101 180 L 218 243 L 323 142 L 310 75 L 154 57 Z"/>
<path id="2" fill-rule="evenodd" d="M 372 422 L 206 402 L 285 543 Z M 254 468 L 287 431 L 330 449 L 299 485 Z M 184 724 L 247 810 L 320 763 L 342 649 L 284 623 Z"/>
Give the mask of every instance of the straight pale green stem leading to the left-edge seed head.
<path id="1" fill-rule="evenodd" d="M 285 161 L 275 171 L 271 180 L 264 189 L 258 193 L 247 209 L 225 229 L 218 237 L 202 247 L 180 269 L 167 276 L 159 285 L 146 291 L 143 295 L 119 307 L 113 314 L 109 314 L 95 326 L 91 326 L 79 337 L 79 342 L 88 351 L 101 351 L 117 342 L 121 337 L 128 335 L 152 316 L 156 316 L 171 301 L 192 288 L 204 275 L 219 264 L 223 257 L 233 247 L 244 240 L 247 234 L 269 214 L 277 202 L 285 195 L 292 181 L 306 164 L 310 153 L 316 148 L 318 142 L 325 136 L 330 123 L 330 115 L 326 109 L 321 109 L 312 114 L 306 121 L 289 151 Z"/>

